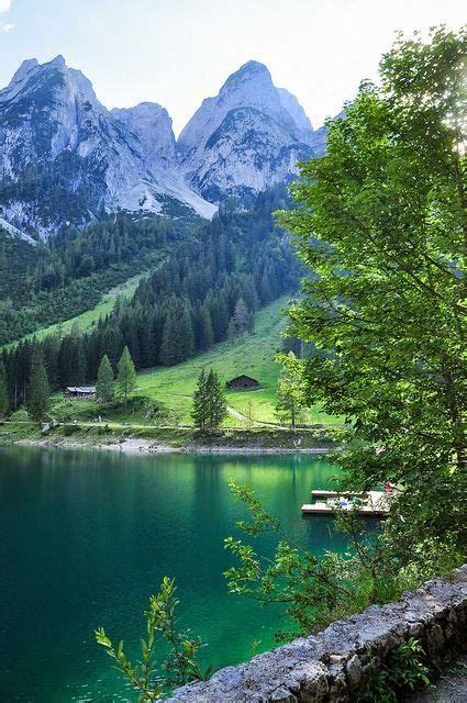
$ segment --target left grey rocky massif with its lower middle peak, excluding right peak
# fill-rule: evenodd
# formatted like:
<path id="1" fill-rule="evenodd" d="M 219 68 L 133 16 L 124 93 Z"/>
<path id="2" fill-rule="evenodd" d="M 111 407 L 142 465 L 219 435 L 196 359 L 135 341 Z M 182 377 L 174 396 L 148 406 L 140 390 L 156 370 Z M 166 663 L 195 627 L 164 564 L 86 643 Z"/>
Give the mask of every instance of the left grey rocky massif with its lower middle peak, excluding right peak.
<path id="1" fill-rule="evenodd" d="M 174 167 L 163 108 L 110 112 L 62 56 L 24 62 L 0 91 L 0 204 L 16 224 L 47 234 L 104 209 L 170 212 L 180 203 L 212 216 L 215 208 Z"/>

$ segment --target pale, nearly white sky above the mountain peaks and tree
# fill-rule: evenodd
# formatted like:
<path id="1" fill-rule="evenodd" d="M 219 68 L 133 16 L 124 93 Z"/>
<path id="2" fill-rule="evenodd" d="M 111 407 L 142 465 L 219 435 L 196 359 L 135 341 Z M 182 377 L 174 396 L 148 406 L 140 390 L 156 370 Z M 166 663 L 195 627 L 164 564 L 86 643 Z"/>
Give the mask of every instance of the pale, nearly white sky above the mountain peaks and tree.
<path id="1" fill-rule="evenodd" d="M 394 31 L 459 27 L 463 0 L 0 0 L 0 87 L 63 54 L 108 108 L 158 102 L 178 133 L 242 64 L 266 64 L 314 127 L 375 78 Z"/>

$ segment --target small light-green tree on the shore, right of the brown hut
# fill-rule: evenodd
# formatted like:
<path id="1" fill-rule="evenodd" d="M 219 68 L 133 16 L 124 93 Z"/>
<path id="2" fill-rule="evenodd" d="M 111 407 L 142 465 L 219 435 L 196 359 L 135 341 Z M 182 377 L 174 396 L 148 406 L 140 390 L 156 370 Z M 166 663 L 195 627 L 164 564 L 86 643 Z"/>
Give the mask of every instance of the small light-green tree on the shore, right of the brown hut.
<path id="1" fill-rule="evenodd" d="M 276 361 L 282 365 L 277 382 L 276 413 L 280 420 L 290 421 L 296 428 L 300 411 L 307 405 L 307 386 L 303 376 L 303 364 L 293 352 L 278 354 Z"/>

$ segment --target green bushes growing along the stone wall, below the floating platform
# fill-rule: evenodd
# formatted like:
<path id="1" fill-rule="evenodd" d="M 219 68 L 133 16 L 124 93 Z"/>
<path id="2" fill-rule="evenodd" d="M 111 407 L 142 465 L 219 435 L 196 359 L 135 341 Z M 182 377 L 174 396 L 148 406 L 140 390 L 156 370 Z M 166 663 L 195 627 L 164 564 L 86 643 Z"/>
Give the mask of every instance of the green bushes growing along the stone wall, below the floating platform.
<path id="1" fill-rule="evenodd" d="M 230 486 L 251 514 L 248 521 L 236 523 L 238 529 L 249 538 L 269 535 L 275 546 L 270 557 L 253 547 L 251 539 L 227 537 L 225 548 L 237 562 L 224 573 L 227 587 L 233 594 L 282 609 L 285 622 L 293 629 L 277 633 L 278 640 L 309 635 L 373 603 L 387 603 L 456 565 L 449 550 L 433 542 L 424 560 L 402 567 L 383 533 L 369 534 L 354 511 L 342 510 L 335 527 L 349 536 L 348 550 L 315 556 L 285 534 L 249 487 L 235 481 Z"/>

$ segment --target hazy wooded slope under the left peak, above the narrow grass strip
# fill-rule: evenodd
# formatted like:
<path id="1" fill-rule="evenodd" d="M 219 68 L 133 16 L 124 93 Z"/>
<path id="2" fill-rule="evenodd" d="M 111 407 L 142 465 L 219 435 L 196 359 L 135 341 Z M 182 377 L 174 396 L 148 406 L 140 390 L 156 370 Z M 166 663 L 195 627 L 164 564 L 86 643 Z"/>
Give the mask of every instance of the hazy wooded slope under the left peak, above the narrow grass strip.
<path id="1" fill-rule="evenodd" d="M 0 230 L 0 344 L 96 305 L 113 286 L 151 267 L 196 220 L 105 216 L 64 227 L 31 246 Z"/>

